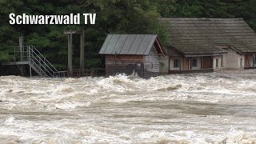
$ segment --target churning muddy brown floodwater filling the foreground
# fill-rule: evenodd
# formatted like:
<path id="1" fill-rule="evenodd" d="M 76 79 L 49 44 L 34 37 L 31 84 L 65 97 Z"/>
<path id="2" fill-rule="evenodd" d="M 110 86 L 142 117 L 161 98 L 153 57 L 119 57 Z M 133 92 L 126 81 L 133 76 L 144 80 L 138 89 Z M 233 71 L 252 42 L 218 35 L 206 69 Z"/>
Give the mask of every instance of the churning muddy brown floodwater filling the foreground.
<path id="1" fill-rule="evenodd" d="M 256 143 L 256 70 L 0 77 L 0 143 Z"/>

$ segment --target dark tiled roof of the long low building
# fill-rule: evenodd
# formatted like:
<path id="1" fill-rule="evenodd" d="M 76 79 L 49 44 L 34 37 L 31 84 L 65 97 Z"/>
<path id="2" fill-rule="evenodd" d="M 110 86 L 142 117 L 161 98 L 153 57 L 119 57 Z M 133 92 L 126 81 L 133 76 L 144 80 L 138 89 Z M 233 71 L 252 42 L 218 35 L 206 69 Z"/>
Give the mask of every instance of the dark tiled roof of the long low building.
<path id="1" fill-rule="evenodd" d="M 170 26 L 170 46 L 184 54 L 222 53 L 217 46 L 256 52 L 256 34 L 242 18 L 161 18 Z"/>

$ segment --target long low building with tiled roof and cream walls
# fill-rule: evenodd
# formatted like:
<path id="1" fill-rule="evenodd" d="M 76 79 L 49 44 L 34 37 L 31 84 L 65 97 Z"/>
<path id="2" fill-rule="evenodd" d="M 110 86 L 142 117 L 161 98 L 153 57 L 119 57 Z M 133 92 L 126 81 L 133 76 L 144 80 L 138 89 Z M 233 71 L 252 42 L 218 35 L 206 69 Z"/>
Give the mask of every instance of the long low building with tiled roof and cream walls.
<path id="1" fill-rule="evenodd" d="M 242 18 L 161 18 L 170 29 L 166 74 L 256 67 L 256 34 Z"/>

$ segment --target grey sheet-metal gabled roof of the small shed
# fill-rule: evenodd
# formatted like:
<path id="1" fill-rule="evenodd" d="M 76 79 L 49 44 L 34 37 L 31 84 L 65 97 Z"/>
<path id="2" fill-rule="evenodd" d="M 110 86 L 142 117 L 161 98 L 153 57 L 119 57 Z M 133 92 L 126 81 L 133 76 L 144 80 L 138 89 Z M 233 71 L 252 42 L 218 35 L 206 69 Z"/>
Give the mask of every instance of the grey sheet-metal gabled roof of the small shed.
<path id="1" fill-rule="evenodd" d="M 158 43 L 158 52 L 164 54 L 158 35 L 108 34 L 99 54 L 148 55 L 155 42 Z"/>

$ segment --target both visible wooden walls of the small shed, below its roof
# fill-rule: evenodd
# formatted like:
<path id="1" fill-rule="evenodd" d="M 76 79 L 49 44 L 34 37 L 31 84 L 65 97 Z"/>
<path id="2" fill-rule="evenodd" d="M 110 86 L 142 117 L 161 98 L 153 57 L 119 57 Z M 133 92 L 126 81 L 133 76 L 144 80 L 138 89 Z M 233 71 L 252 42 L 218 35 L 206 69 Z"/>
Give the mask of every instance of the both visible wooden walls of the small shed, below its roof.
<path id="1" fill-rule="evenodd" d="M 141 78 L 159 75 L 159 56 L 154 48 L 150 54 L 143 55 L 106 55 L 106 76 L 136 72 Z"/>

